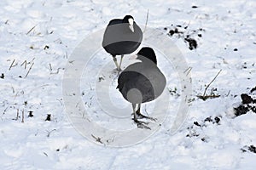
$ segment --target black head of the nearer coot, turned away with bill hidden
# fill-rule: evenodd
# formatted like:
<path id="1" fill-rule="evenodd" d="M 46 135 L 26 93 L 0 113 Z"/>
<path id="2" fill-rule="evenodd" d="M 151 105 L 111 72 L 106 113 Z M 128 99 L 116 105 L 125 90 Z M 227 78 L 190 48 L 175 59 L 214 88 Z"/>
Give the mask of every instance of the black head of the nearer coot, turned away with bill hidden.
<path id="1" fill-rule="evenodd" d="M 147 61 L 150 59 L 151 61 L 154 62 L 154 64 L 157 64 L 156 61 L 156 56 L 154 54 L 154 50 L 152 48 L 142 48 L 138 53 L 137 53 L 137 59 L 141 61 Z"/>

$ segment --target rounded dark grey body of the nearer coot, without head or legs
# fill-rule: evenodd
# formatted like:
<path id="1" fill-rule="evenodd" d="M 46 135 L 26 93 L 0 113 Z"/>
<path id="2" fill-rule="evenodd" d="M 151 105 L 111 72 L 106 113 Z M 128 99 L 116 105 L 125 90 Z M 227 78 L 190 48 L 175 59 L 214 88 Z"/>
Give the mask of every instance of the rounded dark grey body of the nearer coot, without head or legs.
<path id="1" fill-rule="evenodd" d="M 117 88 L 127 101 L 140 104 L 158 98 L 166 87 L 166 78 L 153 63 L 139 62 L 129 65 L 125 71 L 122 71 L 118 83 Z M 130 92 L 133 88 L 140 94 L 136 91 Z"/>

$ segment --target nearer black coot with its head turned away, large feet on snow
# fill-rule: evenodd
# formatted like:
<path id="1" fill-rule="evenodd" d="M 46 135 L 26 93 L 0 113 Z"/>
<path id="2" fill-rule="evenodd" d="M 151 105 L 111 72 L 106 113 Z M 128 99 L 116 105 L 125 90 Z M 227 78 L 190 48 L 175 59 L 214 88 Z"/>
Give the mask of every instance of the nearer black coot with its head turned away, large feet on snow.
<path id="1" fill-rule="evenodd" d="M 140 113 L 141 104 L 152 101 L 162 94 L 166 87 L 166 77 L 157 67 L 157 60 L 152 48 L 142 48 L 137 59 L 142 62 L 137 62 L 129 65 L 120 75 L 118 79 L 118 87 L 123 97 L 132 105 L 134 122 L 137 127 L 149 128 L 137 119 L 152 117 L 143 116 Z M 137 109 L 136 109 L 137 107 Z M 136 111 L 137 110 L 137 111 Z"/>

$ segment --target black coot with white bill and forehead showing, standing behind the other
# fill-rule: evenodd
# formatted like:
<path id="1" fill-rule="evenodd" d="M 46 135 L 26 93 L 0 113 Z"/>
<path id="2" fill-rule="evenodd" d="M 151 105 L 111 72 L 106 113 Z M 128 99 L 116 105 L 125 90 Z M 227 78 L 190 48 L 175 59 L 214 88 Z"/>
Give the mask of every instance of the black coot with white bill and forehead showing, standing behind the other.
<path id="1" fill-rule="evenodd" d="M 102 47 L 113 56 L 113 61 L 120 71 L 124 55 L 133 53 L 142 41 L 143 31 L 131 15 L 126 15 L 124 19 L 110 20 L 104 32 Z M 121 55 L 119 64 L 116 55 Z"/>

